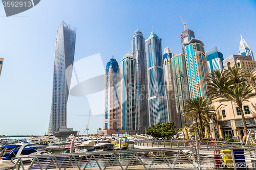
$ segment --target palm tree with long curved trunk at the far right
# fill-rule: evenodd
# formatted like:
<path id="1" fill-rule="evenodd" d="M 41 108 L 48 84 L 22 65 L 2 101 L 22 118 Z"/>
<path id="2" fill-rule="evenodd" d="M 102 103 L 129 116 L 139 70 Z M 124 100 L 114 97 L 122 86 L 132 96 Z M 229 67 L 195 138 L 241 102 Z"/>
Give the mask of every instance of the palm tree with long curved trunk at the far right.
<path id="1" fill-rule="evenodd" d="M 249 84 L 245 84 L 245 82 L 243 82 L 243 83 L 238 83 L 238 84 L 229 86 L 226 89 L 226 93 L 221 95 L 222 99 L 219 100 L 220 102 L 234 102 L 239 106 L 243 124 L 244 124 L 243 142 L 246 141 L 246 138 L 248 135 L 244 111 L 243 111 L 243 102 L 249 102 L 249 99 L 255 96 L 256 96 L 256 93 L 252 92 L 252 87 Z"/>

